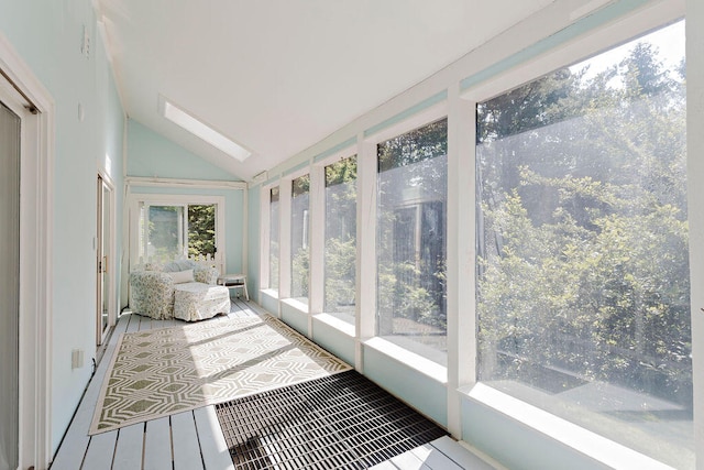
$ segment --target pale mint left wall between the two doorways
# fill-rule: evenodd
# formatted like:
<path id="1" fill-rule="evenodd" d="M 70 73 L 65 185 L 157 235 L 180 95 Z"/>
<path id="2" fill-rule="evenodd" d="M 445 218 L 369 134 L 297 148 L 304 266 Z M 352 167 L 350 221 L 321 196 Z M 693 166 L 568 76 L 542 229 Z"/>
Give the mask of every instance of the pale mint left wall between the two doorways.
<path id="1" fill-rule="evenodd" d="M 56 106 L 53 195 L 51 439 L 55 451 L 96 352 L 96 181 L 121 185 L 124 112 L 90 0 L 0 0 L 4 35 Z M 89 47 L 81 47 L 84 36 Z M 117 187 L 117 206 L 122 192 Z M 118 221 L 119 223 L 119 221 Z M 86 229 L 86 228 L 89 229 Z M 120 247 L 120 229 L 116 245 Z M 119 262 L 119 260 L 118 260 Z M 116 272 L 119 272 L 116 265 Z M 119 292 L 117 293 L 119 298 Z M 73 349 L 85 351 L 72 369 Z"/>

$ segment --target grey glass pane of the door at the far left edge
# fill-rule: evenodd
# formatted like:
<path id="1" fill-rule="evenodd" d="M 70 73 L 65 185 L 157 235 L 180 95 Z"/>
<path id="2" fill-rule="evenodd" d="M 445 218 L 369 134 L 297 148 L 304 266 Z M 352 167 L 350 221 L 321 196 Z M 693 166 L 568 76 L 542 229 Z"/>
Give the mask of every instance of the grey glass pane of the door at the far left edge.
<path id="1" fill-rule="evenodd" d="M 19 460 L 20 124 L 0 102 L 0 469 Z"/>

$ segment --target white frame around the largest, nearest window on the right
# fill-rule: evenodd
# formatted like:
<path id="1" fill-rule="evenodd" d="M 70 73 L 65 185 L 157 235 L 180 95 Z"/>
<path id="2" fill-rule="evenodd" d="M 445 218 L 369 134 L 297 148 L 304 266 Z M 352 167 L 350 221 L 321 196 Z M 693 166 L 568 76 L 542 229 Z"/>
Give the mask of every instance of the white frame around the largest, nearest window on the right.
<path id="1" fill-rule="evenodd" d="M 590 57 L 596 56 L 603 52 L 615 48 L 624 43 L 631 41 L 635 37 L 642 36 L 653 30 L 658 30 L 668 24 L 679 21 L 684 18 L 683 3 L 659 3 L 650 7 L 642 8 L 632 14 L 628 14 L 617 19 L 614 22 L 607 23 L 603 26 L 596 28 L 586 34 L 580 35 L 578 39 L 570 41 L 558 48 L 551 48 L 550 51 L 527 61 L 521 65 L 510 68 L 507 72 L 497 74 L 496 76 L 488 77 L 480 84 L 476 84 L 466 89 L 459 91 L 458 96 L 458 113 L 470 117 L 471 127 L 469 129 L 461 129 L 460 132 L 471 134 L 472 144 L 466 150 L 468 159 L 472 162 L 471 166 L 474 166 L 476 162 L 476 147 L 474 145 L 475 132 L 476 132 L 476 103 L 490 100 L 496 96 L 508 92 L 512 89 L 530 83 L 541 76 L 554 72 L 562 67 L 569 67 L 578 64 Z M 468 119 L 462 119 L 466 124 Z M 469 138 L 466 139 L 469 140 Z M 466 145 L 466 142 L 463 144 Z M 689 143 L 688 143 L 689 145 Z M 689 172 L 688 177 L 693 175 Z M 694 179 L 692 179 L 694 181 Z M 471 195 L 469 189 L 460 188 L 459 197 L 466 197 L 468 206 L 471 206 L 473 227 L 476 227 L 474 221 L 474 205 L 475 205 L 475 175 L 474 168 L 472 168 L 472 186 Z M 693 206 L 691 206 L 693 207 Z M 694 210 L 690 210 L 689 218 L 696 217 Z M 704 218 L 701 215 L 700 218 Z M 701 223 L 700 223 L 701 225 Z M 473 233 L 474 236 L 475 233 Z M 690 242 L 691 243 L 691 242 Z M 476 265 L 476 250 L 472 248 L 472 272 L 464 273 L 458 278 L 461 286 L 465 286 L 466 291 L 472 295 L 476 292 L 476 278 L 474 273 L 474 266 Z M 694 281 L 693 272 L 690 273 L 690 278 Z M 694 285 L 694 282 L 692 282 Z M 449 296 L 450 297 L 450 296 Z M 697 338 L 697 330 L 694 321 L 694 296 L 692 296 L 692 338 Z M 479 350 L 479 342 L 476 336 L 476 306 L 475 300 L 471 302 L 471 308 L 466 308 L 464 314 L 471 316 L 472 324 L 472 337 L 470 348 L 471 354 L 476 358 Z M 448 326 L 449 328 L 449 326 Z M 693 340 L 693 353 L 696 350 Z M 460 367 L 463 364 L 460 363 Z M 492 386 L 488 386 L 477 381 L 479 369 L 476 360 L 470 362 L 469 371 L 460 372 L 460 375 L 464 374 L 464 380 L 459 381 L 459 393 L 464 400 L 477 403 L 486 406 L 496 413 L 508 416 L 514 420 L 521 423 L 530 429 L 537 430 L 548 437 L 561 442 L 570 448 L 594 458 L 600 462 L 604 462 L 608 466 L 619 467 L 639 467 L 639 466 L 661 466 L 664 463 L 656 461 L 648 456 L 645 456 L 637 450 L 615 442 L 602 435 L 587 430 L 572 422 L 558 417 L 547 411 L 543 411 L 534 405 L 529 405 L 519 398 L 501 392 Z M 701 368 L 698 368 L 701 369 Z M 704 371 L 697 373 L 697 365 L 693 362 L 693 375 L 694 383 L 700 383 Z M 464 383 L 463 383 L 464 382 Z M 694 424 L 701 420 L 702 413 L 697 413 L 697 408 L 702 405 L 697 405 L 697 401 L 694 403 Z M 696 436 L 695 436 L 696 441 Z M 698 449 L 697 449 L 698 450 Z M 701 458 L 701 451 L 697 451 L 698 458 Z"/>

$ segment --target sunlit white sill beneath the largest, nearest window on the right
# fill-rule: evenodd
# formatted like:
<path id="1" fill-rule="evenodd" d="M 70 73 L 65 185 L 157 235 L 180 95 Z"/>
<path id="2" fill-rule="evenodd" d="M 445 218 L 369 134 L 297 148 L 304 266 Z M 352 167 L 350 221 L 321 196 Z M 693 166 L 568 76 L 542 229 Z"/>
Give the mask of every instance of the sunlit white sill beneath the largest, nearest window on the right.
<path id="1" fill-rule="evenodd" d="M 495 409 L 609 468 L 671 469 L 598 434 L 552 415 L 492 386 L 477 383 L 459 390 L 466 398 Z"/>

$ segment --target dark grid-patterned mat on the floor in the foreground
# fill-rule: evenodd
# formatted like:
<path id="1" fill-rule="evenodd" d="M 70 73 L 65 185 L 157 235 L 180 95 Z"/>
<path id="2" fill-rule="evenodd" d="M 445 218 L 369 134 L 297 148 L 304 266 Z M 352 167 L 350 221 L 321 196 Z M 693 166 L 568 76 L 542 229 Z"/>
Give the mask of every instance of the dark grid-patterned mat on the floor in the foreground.
<path id="1" fill-rule="evenodd" d="M 354 370 L 216 411 L 235 469 L 365 469 L 447 435 Z"/>

